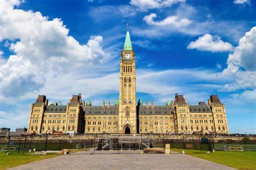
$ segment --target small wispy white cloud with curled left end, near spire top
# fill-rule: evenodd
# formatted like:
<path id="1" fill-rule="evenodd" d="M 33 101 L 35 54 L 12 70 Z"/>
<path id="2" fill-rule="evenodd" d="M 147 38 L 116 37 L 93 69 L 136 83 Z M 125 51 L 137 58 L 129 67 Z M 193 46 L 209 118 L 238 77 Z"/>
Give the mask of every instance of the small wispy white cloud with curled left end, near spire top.
<path id="1" fill-rule="evenodd" d="M 143 20 L 149 25 L 156 25 L 156 26 L 187 26 L 191 23 L 191 21 L 187 18 L 179 18 L 178 16 L 169 16 L 162 21 L 153 21 L 153 18 L 156 18 L 156 13 L 150 13 L 143 18 Z"/>

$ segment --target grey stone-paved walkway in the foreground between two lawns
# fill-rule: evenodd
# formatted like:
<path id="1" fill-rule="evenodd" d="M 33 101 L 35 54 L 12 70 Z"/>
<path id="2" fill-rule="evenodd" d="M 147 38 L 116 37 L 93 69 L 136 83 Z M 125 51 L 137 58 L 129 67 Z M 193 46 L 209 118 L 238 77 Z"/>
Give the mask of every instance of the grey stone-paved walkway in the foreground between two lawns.
<path id="1" fill-rule="evenodd" d="M 81 151 L 12 169 L 233 169 L 186 154 L 139 154 L 139 151 Z"/>

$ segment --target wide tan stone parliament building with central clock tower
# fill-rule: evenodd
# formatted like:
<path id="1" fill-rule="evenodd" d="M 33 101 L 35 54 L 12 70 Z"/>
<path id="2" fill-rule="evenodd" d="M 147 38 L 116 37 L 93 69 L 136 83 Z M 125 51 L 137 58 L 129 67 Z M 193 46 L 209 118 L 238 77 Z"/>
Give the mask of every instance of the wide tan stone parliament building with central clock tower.
<path id="1" fill-rule="evenodd" d="M 136 103 L 136 60 L 130 32 L 126 31 L 120 54 L 119 100 L 101 106 L 85 104 L 81 95 L 73 95 L 65 106 L 48 105 L 46 96 L 38 96 L 31 105 L 28 133 L 228 133 L 225 105 L 217 95 L 208 104 L 189 105 L 183 95 L 175 95 L 164 106 L 152 101 Z"/>

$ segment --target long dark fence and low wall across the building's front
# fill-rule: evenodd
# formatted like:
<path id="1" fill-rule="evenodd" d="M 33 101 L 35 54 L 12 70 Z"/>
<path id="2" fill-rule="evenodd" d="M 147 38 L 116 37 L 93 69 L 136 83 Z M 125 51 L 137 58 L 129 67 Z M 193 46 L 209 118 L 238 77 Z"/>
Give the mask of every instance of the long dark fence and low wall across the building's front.
<path id="1" fill-rule="evenodd" d="M 51 137 L 51 138 L 50 138 Z M 152 136 L 151 136 L 152 137 Z M 126 140 L 127 136 L 124 139 L 124 136 L 120 135 L 118 139 L 109 140 L 109 136 L 104 135 L 90 135 L 90 139 L 79 139 L 74 138 L 71 135 L 69 137 L 52 137 L 52 136 L 43 136 L 43 137 L 7 137 L 0 140 L 0 152 L 17 152 L 18 154 L 24 154 L 28 151 L 59 151 L 61 149 L 75 149 L 75 148 L 89 148 L 93 147 L 93 152 L 95 149 L 111 149 L 120 150 L 120 149 L 143 149 L 142 146 L 145 144 L 146 138 L 149 136 L 144 136 L 145 139 L 142 139 L 142 135 L 137 135 L 136 140 L 132 138 L 132 143 L 129 138 L 129 142 Z M 174 138 L 174 137 L 173 137 Z M 175 137 L 176 138 L 176 137 Z M 127 138 L 128 139 L 128 138 Z M 111 141 L 109 147 L 107 146 L 106 141 Z M 143 144 L 144 141 L 144 144 Z M 240 147 L 243 151 L 256 151 L 256 140 L 248 140 L 248 138 L 243 138 L 242 140 L 215 140 L 214 137 L 200 137 L 197 139 L 189 139 L 186 136 L 181 137 L 180 139 L 172 139 L 170 135 L 158 135 L 154 138 L 151 138 L 150 141 L 152 144 L 149 144 L 149 147 L 161 147 L 164 148 L 165 144 L 170 144 L 171 148 L 182 148 L 182 149 L 195 149 L 198 151 L 228 151 L 228 148 L 237 148 Z M 104 143 L 106 142 L 106 143 Z M 127 142 L 127 144 L 125 143 Z M 127 147 L 124 147 L 127 146 Z M 129 147 L 128 147 L 129 146 Z M 131 147 L 131 146 L 134 146 Z M 145 147 L 144 147 L 145 148 Z"/>

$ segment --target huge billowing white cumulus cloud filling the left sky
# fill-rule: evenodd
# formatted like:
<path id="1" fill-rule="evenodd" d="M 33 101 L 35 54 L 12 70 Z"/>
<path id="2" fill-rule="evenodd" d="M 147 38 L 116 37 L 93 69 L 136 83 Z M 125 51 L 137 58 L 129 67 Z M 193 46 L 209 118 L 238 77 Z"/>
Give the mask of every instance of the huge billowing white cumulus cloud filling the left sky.
<path id="1" fill-rule="evenodd" d="M 0 62 L 0 100 L 39 91 L 46 78 L 100 63 L 108 57 L 102 36 L 91 36 L 84 45 L 69 35 L 58 19 L 41 12 L 14 8 L 20 1 L 0 2 L 0 42 L 9 39 L 15 53 Z"/>

